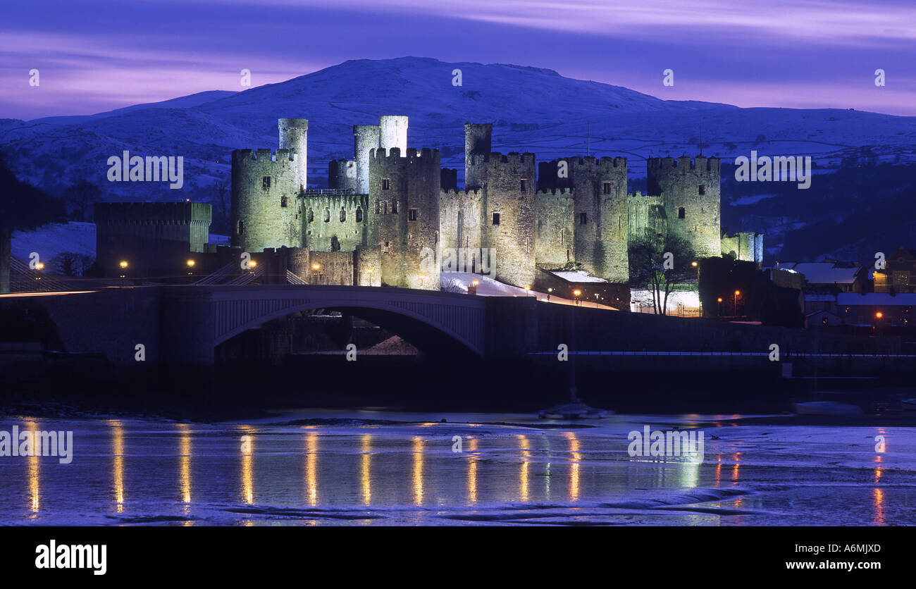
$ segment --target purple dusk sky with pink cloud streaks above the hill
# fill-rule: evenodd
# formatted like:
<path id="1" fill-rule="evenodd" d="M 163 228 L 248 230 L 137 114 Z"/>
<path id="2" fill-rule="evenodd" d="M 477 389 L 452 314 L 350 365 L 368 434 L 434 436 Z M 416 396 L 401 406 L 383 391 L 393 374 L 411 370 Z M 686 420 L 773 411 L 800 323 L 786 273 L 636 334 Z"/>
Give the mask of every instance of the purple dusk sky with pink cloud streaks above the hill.
<path id="1" fill-rule="evenodd" d="M 405 55 L 550 68 L 665 99 L 916 115 L 913 0 L 7 0 L 0 118 L 243 90 L 243 68 L 256 86 Z"/>

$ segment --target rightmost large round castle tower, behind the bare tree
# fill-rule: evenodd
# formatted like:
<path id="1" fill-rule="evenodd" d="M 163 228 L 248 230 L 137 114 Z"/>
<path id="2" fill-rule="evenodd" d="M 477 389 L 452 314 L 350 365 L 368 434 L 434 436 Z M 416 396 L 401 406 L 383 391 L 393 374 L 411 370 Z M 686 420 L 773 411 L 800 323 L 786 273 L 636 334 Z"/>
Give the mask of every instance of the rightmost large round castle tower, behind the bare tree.
<path id="1" fill-rule="evenodd" d="M 719 158 L 649 158 L 647 188 L 660 195 L 668 228 L 699 257 L 721 255 Z"/>

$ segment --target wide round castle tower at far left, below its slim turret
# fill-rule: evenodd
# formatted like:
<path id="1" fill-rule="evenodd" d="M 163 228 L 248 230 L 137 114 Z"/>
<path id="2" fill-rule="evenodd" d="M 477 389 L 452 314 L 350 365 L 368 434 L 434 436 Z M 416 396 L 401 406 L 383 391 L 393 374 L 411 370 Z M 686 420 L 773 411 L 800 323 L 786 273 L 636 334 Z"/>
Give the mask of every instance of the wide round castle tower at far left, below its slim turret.
<path id="1" fill-rule="evenodd" d="M 300 164 L 289 149 L 232 152 L 232 245 L 247 252 L 302 245 Z"/>

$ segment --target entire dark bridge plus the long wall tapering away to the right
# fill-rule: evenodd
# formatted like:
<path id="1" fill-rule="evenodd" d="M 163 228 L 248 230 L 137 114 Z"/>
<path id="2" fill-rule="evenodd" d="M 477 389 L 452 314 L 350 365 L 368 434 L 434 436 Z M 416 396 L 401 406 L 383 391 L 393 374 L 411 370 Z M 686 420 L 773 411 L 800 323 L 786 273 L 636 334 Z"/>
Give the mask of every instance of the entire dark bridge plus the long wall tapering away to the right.
<path id="1" fill-rule="evenodd" d="M 0 306 L 37 305 L 71 353 L 101 353 L 118 364 L 213 365 L 214 349 L 245 330 L 296 311 L 351 313 L 428 354 L 520 358 L 570 352 L 746 352 L 769 362 L 783 353 L 900 354 L 897 338 L 822 335 L 780 327 L 660 317 L 435 290 L 323 285 L 142 286 L 0 296 Z M 39 311 L 44 312 L 44 311 Z M 813 344 L 813 345 L 812 345 Z M 452 357 L 452 356 L 449 356 Z"/>

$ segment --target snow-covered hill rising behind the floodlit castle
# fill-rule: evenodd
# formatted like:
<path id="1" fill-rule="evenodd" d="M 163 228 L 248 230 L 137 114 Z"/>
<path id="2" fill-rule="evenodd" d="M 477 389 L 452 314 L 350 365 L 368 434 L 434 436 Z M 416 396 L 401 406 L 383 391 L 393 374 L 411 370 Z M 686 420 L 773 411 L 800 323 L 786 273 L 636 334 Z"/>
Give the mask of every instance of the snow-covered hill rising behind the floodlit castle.
<path id="1" fill-rule="evenodd" d="M 461 70 L 461 86 L 453 85 L 454 70 Z M 818 169 L 833 170 L 856 147 L 869 146 L 878 162 L 916 163 L 916 117 L 664 101 L 556 71 L 412 57 L 351 60 L 245 92 L 197 93 L 99 115 L 0 119 L 0 149 L 21 180 L 48 191 L 60 193 L 85 179 L 99 184 L 106 200 L 212 202 L 214 182 L 229 181 L 233 149 L 277 147 L 279 117 L 309 119 L 310 184 L 321 185 L 330 158 L 352 157 L 352 125 L 376 124 L 378 115 L 408 115 L 410 145 L 440 148 L 443 165 L 458 168 L 460 180 L 465 121 L 495 123 L 497 151 L 531 151 L 539 160 L 586 152 L 627 157 L 631 190 L 640 188 L 644 158 L 694 155 L 701 136 L 703 153 L 724 161 L 756 149 L 811 155 Z M 184 187 L 108 182 L 107 158 L 124 150 L 183 156 Z M 767 191 L 760 187 L 761 194 Z M 804 199 L 802 192 L 797 197 Z M 733 206 L 724 194 L 723 223 L 732 230 L 768 232 L 828 216 L 836 222 L 835 213 L 848 218 L 866 204 L 875 206 L 839 202 L 823 218 L 800 219 L 791 199 L 735 196 Z M 753 218 L 762 204 L 788 208 Z"/>

